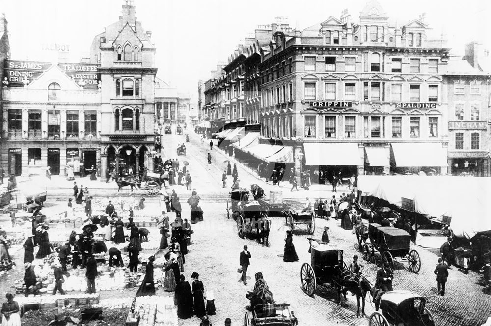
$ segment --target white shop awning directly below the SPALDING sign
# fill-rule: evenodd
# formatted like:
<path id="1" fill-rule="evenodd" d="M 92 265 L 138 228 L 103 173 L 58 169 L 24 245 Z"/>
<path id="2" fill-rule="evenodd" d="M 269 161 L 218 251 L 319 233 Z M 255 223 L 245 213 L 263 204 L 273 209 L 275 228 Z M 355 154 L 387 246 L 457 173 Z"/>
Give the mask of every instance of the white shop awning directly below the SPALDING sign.
<path id="1" fill-rule="evenodd" d="M 447 166 L 441 143 L 392 143 L 396 166 Z"/>

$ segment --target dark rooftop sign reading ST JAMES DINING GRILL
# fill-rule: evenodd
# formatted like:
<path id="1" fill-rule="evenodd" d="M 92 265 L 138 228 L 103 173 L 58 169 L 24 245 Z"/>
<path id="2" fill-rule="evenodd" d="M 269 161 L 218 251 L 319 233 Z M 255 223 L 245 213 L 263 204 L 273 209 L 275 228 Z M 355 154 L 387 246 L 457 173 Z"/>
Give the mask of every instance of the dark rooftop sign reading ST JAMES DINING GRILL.
<path id="1" fill-rule="evenodd" d="M 49 67 L 51 67 L 49 62 L 5 61 L 5 77 L 8 78 L 8 86 L 24 87 Z"/>

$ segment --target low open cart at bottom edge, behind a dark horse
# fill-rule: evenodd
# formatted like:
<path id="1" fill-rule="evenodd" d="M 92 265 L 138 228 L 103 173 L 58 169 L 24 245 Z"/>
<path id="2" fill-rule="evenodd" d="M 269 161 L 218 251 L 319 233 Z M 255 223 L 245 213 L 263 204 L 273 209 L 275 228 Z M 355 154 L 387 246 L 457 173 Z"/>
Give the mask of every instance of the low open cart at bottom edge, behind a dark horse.
<path id="1" fill-rule="evenodd" d="M 289 304 L 263 304 L 256 305 L 252 312 L 244 315 L 245 326 L 259 325 L 294 325 L 295 318 L 290 312 Z"/>

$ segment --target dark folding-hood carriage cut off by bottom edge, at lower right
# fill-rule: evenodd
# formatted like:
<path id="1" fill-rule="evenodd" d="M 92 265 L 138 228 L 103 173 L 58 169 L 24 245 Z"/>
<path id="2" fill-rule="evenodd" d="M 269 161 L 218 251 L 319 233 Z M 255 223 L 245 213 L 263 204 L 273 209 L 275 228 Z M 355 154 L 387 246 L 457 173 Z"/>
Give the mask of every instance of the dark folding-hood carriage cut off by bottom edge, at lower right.
<path id="1" fill-rule="evenodd" d="M 382 295 L 380 310 L 370 315 L 369 326 L 435 326 L 426 308 L 426 299 L 409 291 L 391 291 Z"/>

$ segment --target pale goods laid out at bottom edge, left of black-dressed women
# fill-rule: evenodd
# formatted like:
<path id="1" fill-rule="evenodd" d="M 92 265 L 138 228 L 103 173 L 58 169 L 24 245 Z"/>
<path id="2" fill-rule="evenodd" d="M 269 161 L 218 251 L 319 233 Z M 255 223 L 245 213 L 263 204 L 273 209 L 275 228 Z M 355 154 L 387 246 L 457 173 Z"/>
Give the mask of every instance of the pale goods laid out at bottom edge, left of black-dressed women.
<path id="1" fill-rule="evenodd" d="M 177 310 L 172 297 L 137 297 L 135 310 L 140 321 L 138 326 L 177 326 Z M 130 311 L 131 313 L 131 311 Z"/>

